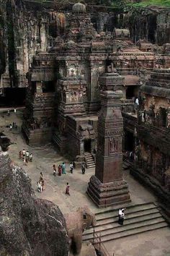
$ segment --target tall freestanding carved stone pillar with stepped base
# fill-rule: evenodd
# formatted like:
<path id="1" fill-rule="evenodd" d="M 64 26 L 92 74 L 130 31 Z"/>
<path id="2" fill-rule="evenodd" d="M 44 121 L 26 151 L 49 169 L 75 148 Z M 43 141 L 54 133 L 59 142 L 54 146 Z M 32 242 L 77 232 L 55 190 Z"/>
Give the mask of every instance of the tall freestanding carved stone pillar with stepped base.
<path id="1" fill-rule="evenodd" d="M 101 77 L 104 90 L 98 119 L 96 170 L 87 189 L 99 207 L 130 201 L 128 184 L 122 179 L 122 91 L 114 91 L 119 77 L 118 74 Z"/>

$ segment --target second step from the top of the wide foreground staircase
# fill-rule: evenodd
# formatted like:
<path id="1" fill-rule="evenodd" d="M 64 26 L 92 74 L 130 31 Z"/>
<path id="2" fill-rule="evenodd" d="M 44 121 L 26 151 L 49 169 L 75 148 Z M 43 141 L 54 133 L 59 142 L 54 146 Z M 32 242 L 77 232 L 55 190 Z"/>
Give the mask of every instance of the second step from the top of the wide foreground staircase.
<path id="1" fill-rule="evenodd" d="M 146 214 L 144 216 L 138 216 L 135 218 L 125 218 L 125 225 L 128 226 L 132 223 L 139 223 L 142 221 L 149 221 L 151 219 L 156 219 L 156 218 L 162 218 L 161 213 L 150 213 L 150 214 Z M 163 218 L 162 218 L 163 219 Z M 164 219 L 163 219 L 164 220 Z M 120 224 L 117 222 L 118 221 L 118 217 L 115 217 L 112 219 L 112 221 L 110 222 L 106 222 L 100 225 L 95 226 L 95 232 L 100 232 L 100 231 L 104 231 L 104 230 L 108 230 L 108 229 L 115 229 L 117 227 L 120 226 Z M 84 235 L 87 234 L 93 234 L 93 228 L 91 229 L 87 229 L 86 231 L 84 231 Z"/>

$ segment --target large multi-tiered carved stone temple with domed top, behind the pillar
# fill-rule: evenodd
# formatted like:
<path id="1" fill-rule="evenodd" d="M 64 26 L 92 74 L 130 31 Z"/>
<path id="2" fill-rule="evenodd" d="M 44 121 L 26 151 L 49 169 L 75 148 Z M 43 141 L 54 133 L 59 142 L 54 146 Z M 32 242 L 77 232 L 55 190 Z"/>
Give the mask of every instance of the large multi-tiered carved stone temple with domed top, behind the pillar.
<path id="1" fill-rule="evenodd" d="M 145 125 L 150 139 L 148 125 L 151 126 L 153 117 L 149 118 L 149 115 L 153 115 L 154 120 L 156 116 L 159 118 L 159 121 L 152 121 L 154 126 L 164 124 L 165 129 L 168 126 L 169 106 L 157 103 L 156 97 L 161 97 L 161 102 L 167 97 L 169 67 L 169 43 L 156 46 L 140 39 L 134 44 L 127 28 L 98 33 L 84 4 L 75 4 L 65 33 L 55 38 L 48 51 L 33 56 L 27 74 L 29 85 L 22 124 L 24 138 L 29 145 L 53 141 L 61 154 L 70 155 L 77 164 L 86 161 L 87 167 L 95 166 L 99 150 L 97 138 L 100 140 L 97 123 L 99 111 L 103 109 L 101 92 L 107 88 L 102 77 L 104 73 L 113 73 L 112 90 L 122 91 L 119 103 L 124 122 L 122 151 L 135 152 L 140 148 L 143 155 L 138 155 L 138 161 L 141 160 L 140 164 L 146 161 L 145 166 L 148 166 L 144 148 L 148 150 L 151 145 L 147 144 L 148 140 L 143 141 L 146 132 L 140 116 L 149 120 Z M 166 86 L 164 81 L 167 81 Z M 134 104 L 135 98 L 139 105 Z M 168 100 L 166 102 L 169 104 Z M 156 107 L 156 104 L 159 105 Z M 155 152 L 158 155 L 157 149 Z M 156 180 L 167 189 L 169 162 L 163 158 L 158 165 L 160 161 L 164 162 L 164 174 L 160 174 L 162 178 L 156 174 Z"/>

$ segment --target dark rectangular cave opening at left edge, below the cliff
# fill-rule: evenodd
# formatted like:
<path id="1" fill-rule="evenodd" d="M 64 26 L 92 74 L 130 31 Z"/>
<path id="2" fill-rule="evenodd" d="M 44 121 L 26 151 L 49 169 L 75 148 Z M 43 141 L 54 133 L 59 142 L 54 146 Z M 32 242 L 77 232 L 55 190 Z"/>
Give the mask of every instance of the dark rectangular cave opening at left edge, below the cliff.
<path id="1" fill-rule="evenodd" d="M 24 106 L 27 88 L 6 88 L 0 96 L 1 107 Z"/>

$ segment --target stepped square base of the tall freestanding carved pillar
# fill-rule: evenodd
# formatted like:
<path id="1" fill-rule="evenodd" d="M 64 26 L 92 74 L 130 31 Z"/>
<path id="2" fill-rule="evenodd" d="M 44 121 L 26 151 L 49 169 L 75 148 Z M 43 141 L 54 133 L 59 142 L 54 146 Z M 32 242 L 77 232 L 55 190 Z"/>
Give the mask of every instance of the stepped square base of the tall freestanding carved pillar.
<path id="1" fill-rule="evenodd" d="M 87 194 L 99 208 L 131 201 L 128 184 L 123 179 L 102 183 L 97 176 L 91 176 Z"/>

